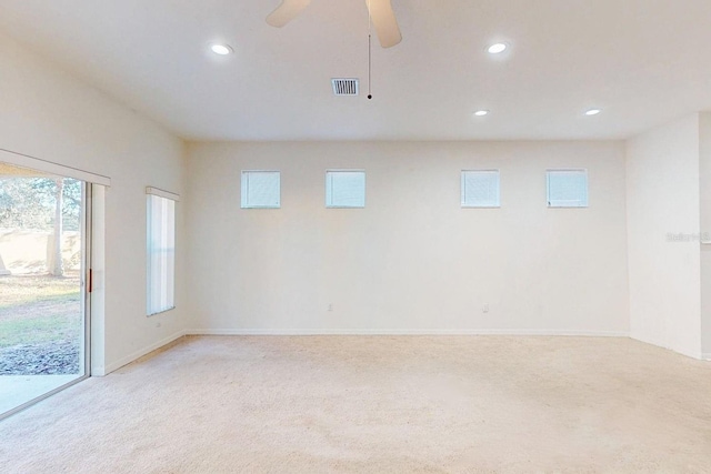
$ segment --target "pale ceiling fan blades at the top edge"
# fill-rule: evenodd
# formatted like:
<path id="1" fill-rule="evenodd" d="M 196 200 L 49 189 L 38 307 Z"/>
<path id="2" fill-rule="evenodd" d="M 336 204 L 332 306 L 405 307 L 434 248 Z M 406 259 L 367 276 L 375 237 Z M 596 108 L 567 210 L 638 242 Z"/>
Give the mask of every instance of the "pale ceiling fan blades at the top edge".
<path id="1" fill-rule="evenodd" d="M 267 17 L 267 23 L 281 28 L 306 9 L 311 0 L 281 0 L 281 4 Z M 383 48 L 391 48 L 402 41 L 395 13 L 390 0 L 365 0 L 370 19 L 375 27 L 378 39 Z"/>

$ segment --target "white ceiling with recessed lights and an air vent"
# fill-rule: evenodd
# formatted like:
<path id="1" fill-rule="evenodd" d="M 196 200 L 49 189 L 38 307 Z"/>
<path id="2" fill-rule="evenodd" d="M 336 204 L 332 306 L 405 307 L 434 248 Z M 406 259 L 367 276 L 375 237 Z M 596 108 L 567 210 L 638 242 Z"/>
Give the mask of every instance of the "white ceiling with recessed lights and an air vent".
<path id="1" fill-rule="evenodd" d="M 0 0 L 0 30 L 192 140 L 620 139 L 711 109 L 710 0 L 392 0 L 371 101 L 364 0 L 274 29 L 278 3 Z"/>

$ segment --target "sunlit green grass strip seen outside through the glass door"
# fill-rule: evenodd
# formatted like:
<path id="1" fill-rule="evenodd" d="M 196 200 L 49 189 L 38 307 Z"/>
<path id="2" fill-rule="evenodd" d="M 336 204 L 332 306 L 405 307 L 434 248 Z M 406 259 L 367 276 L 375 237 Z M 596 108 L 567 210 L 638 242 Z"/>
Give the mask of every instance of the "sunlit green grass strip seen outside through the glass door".
<path id="1" fill-rule="evenodd" d="M 77 276 L 2 276 L 0 294 L 0 349 L 81 337 L 81 290 Z"/>

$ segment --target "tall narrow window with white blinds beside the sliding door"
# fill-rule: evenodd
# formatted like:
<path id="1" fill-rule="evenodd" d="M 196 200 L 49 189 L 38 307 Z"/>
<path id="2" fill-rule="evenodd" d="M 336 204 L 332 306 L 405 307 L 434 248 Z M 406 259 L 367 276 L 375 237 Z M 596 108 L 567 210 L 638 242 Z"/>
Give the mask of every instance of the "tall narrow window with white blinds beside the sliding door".
<path id="1" fill-rule="evenodd" d="M 157 314 L 176 306 L 176 201 L 178 195 L 156 188 L 148 194 L 148 307 Z"/>

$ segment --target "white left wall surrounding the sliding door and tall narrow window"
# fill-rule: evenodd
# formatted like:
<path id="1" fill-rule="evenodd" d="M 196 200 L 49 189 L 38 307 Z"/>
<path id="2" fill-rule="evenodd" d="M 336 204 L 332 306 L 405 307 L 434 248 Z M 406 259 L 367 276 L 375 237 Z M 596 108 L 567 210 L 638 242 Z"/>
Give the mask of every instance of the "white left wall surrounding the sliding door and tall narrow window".
<path id="1" fill-rule="evenodd" d="M 106 192 L 106 359 L 113 370 L 186 327 L 179 310 L 146 317 L 146 185 L 181 193 L 184 145 L 107 95 L 0 36 L 0 148 L 111 178 Z M 178 245 L 184 243 L 178 206 Z M 178 259 L 178 274 L 183 262 Z M 157 323 L 161 327 L 157 327 Z M 97 361 L 101 361 L 101 356 Z M 104 366 L 101 366 L 104 365 Z"/>

